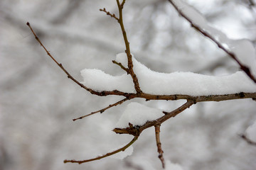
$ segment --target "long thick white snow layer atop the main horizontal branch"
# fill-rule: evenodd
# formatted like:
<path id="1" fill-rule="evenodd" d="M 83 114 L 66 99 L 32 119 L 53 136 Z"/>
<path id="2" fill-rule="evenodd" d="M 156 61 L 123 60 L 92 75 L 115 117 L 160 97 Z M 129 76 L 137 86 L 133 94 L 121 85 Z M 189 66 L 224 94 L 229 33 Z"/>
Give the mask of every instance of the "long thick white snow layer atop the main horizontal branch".
<path id="1" fill-rule="evenodd" d="M 116 58 L 127 66 L 127 56 L 120 53 Z M 147 94 L 183 94 L 208 96 L 218 94 L 236 94 L 256 92 L 256 84 L 244 72 L 227 76 L 207 76 L 192 72 L 172 72 L 169 74 L 154 72 L 132 57 L 134 72 L 139 79 L 142 91 Z M 128 74 L 114 77 L 99 69 L 83 69 L 82 84 L 97 91 L 119 90 L 135 93 L 132 78 Z"/>

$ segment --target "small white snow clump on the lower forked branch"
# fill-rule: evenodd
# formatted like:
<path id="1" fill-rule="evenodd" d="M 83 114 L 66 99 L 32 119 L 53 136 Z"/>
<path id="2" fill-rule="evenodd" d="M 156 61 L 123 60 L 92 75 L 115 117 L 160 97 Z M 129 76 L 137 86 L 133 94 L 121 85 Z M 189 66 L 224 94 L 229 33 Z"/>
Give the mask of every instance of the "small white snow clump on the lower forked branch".
<path id="1" fill-rule="evenodd" d="M 144 125 L 146 121 L 156 120 L 164 114 L 157 108 L 149 108 L 140 103 L 129 103 L 127 108 L 122 113 L 121 118 L 116 124 L 118 128 L 129 127 L 128 123 L 132 125 Z"/>

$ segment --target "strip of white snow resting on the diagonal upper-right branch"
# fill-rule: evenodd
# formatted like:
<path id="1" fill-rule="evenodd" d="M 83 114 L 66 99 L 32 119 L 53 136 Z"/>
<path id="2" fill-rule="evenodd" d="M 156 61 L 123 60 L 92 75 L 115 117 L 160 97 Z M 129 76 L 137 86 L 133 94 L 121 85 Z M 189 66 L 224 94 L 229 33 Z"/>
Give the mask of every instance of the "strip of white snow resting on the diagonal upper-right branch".
<path id="1" fill-rule="evenodd" d="M 181 9 L 181 11 L 190 18 L 191 21 L 193 21 L 193 24 L 205 30 L 213 36 L 215 40 L 218 40 L 220 44 L 226 47 L 227 50 L 233 52 L 237 59 L 245 66 L 249 67 L 252 74 L 256 77 L 256 51 L 250 40 L 232 40 L 220 30 L 210 26 L 206 21 L 206 18 L 196 11 L 193 6 L 189 6 L 186 2 L 181 0 L 174 0 L 174 4 L 176 4 L 176 6 L 178 6 L 178 8 Z"/>

